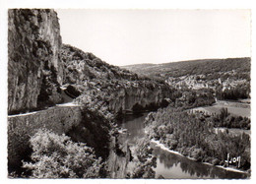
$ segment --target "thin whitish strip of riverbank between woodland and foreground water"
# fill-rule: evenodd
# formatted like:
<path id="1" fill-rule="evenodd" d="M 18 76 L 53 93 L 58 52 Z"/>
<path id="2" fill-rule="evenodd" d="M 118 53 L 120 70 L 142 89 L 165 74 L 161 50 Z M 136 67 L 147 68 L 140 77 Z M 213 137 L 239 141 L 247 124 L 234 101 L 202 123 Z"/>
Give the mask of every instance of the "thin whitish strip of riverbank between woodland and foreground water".
<path id="1" fill-rule="evenodd" d="M 196 159 L 193 158 L 193 157 L 185 156 L 185 155 L 183 155 L 183 154 L 181 154 L 181 153 L 178 153 L 178 152 L 176 152 L 176 151 L 169 150 L 168 148 L 165 147 L 165 145 L 161 144 L 160 141 L 151 140 L 151 143 L 156 144 L 157 147 L 160 147 L 161 150 L 164 150 L 164 151 L 166 151 L 166 152 L 168 152 L 168 153 L 178 154 L 178 155 L 187 157 L 188 159 L 191 159 L 191 160 L 193 160 L 193 161 L 196 161 Z M 222 169 L 227 170 L 227 171 L 233 171 L 233 172 L 239 172 L 239 173 L 249 174 L 247 171 L 243 171 L 243 170 L 236 169 L 236 168 L 232 168 L 232 167 L 224 167 L 223 165 L 214 165 L 214 164 L 209 163 L 209 162 L 201 162 L 201 163 L 203 163 L 203 164 L 208 164 L 208 165 L 211 165 L 211 166 L 216 166 L 216 167 L 222 168 Z"/>

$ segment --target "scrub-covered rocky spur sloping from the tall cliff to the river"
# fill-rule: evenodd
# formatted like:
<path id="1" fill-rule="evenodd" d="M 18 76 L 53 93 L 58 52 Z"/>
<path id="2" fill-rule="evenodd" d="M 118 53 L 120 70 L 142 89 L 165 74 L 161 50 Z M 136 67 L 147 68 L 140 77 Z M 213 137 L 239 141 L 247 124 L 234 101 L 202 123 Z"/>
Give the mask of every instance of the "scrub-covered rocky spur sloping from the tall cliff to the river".
<path id="1" fill-rule="evenodd" d="M 79 103 L 95 108 L 105 107 L 113 113 L 152 109 L 163 105 L 170 93 L 164 83 L 138 77 L 70 45 L 62 46 L 62 60 L 65 85 L 81 93 Z"/>

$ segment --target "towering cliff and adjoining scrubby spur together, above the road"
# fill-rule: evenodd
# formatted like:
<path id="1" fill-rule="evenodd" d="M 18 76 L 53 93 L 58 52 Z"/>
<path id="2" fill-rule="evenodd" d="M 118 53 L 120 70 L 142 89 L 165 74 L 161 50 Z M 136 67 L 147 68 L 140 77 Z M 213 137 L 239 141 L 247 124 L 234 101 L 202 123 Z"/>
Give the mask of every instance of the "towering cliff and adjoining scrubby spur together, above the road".
<path id="1" fill-rule="evenodd" d="M 168 97 L 164 83 L 62 45 L 54 10 L 12 9 L 8 14 L 9 114 L 61 102 L 62 85 L 75 97 L 81 94 L 78 102 L 94 101 L 112 112 L 160 106 Z"/>

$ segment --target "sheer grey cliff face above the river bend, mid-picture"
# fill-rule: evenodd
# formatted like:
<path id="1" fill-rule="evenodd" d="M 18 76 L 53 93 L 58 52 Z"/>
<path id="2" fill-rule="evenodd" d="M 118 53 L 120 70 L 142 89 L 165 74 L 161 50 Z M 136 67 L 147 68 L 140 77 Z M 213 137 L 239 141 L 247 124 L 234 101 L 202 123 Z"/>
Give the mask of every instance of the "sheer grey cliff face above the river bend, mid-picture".
<path id="1" fill-rule="evenodd" d="M 143 110 L 156 110 L 160 106 L 167 105 L 165 98 L 169 95 L 165 85 L 156 82 L 136 81 L 131 85 L 119 87 L 112 92 L 108 105 L 114 112 Z"/>

